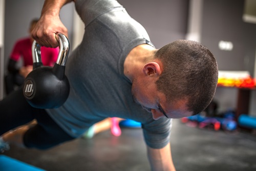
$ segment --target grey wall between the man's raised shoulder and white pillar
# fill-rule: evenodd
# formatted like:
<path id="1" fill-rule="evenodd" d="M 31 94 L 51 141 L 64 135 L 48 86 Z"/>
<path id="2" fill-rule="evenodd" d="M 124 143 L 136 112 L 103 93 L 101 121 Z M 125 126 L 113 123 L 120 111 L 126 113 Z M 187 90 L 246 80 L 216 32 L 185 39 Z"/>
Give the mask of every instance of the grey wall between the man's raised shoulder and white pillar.
<path id="1" fill-rule="evenodd" d="M 118 2 L 145 27 L 156 48 L 161 48 L 176 39 L 185 38 L 189 0 L 118 0 Z"/>

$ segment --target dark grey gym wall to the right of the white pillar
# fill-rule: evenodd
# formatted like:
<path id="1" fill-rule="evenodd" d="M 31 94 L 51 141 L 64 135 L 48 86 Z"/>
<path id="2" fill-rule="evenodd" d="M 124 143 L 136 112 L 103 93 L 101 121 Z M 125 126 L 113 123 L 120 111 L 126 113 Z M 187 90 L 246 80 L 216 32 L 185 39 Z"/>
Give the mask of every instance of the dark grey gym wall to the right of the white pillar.
<path id="1" fill-rule="evenodd" d="M 253 76 L 256 25 L 242 20 L 244 13 L 243 0 L 204 0 L 201 42 L 214 53 L 219 70 L 249 71 Z M 219 41 L 231 41 L 232 51 L 220 50 Z M 220 110 L 236 109 L 237 89 L 218 88 L 215 99 Z M 255 91 L 251 92 L 250 115 L 256 115 Z"/>

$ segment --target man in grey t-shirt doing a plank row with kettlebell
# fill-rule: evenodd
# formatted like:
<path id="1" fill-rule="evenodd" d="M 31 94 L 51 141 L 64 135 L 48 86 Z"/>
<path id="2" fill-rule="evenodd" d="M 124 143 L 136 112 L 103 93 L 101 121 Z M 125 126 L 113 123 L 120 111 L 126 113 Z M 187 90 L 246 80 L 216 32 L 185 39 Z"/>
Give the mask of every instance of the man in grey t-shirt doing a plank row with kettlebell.
<path id="1" fill-rule="evenodd" d="M 32 32 L 38 44 L 57 47 L 56 34 L 67 35 L 59 10 L 69 2 L 45 1 Z M 189 40 L 155 49 L 144 28 L 117 1 L 76 0 L 75 6 L 86 32 L 67 61 L 69 98 L 58 109 L 43 110 L 32 108 L 22 91 L 8 96 L 0 102 L 0 134 L 34 118 L 39 124 L 5 133 L 2 144 L 49 148 L 81 136 L 106 117 L 119 117 L 142 124 L 152 170 L 175 170 L 169 118 L 195 115 L 210 103 L 218 81 L 214 56 Z M 17 97 L 16 109 L 6 109 Z"/>

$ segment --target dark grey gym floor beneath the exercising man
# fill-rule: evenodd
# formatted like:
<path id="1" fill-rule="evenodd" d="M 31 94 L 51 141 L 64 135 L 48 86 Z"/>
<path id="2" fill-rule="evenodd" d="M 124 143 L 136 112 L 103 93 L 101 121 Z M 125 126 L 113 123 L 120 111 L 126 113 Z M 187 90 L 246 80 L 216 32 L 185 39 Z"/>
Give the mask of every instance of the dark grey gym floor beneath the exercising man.
<path id="1" fill-rule="evenodd" d="M 176 119 L 171 143 L 177 171 L 256 170 L 256 135 L 252 133 L 199 129 Z M 3 155 L 49 171 L 150 170 L 141 129 L 122 128 L 120 137 L 106 131 L 47 151 L 11 146 Z"/>

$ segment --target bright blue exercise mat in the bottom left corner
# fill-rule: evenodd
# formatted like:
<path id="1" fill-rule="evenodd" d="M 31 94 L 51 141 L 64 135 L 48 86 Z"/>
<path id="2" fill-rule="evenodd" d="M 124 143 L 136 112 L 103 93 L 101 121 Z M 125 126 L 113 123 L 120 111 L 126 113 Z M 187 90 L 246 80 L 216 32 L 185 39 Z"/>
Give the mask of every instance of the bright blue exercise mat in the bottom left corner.
<path id="1" fill-rule="evenodd" d="M 41 168 L 29 165 L 22 161 L 10 158 L 5 155 L 0 155 L 0 170 L 1 171 L 44 171 Z"/>

